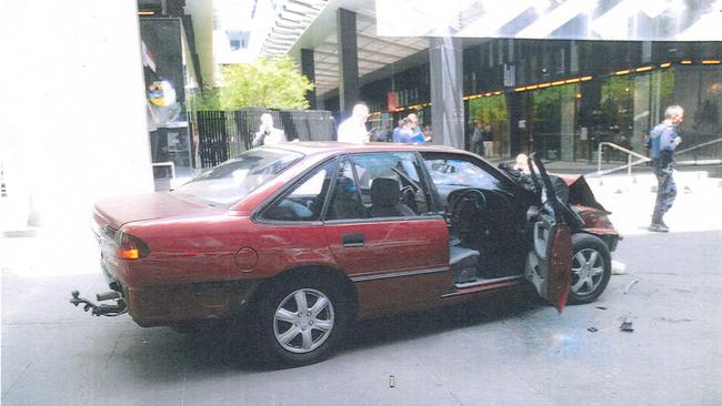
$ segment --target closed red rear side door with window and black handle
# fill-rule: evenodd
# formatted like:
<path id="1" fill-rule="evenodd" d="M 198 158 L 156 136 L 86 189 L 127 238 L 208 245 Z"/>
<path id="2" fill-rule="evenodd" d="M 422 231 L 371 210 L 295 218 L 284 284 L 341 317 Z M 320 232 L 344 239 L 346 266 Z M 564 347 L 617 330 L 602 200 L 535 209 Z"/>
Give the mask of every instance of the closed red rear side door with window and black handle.
<path id="1" fill-rule="evenodd" d="M 334 261 L 355 284 L 362 316 L 438 300 L 452 284 L 447 224 L 430 212 L 420 173 L 407 152 L 357 154 L 341 164 L 324 227 Z M 391 185 L 392 201 L 374 194 L 382 183 Z M 383 211 L 374 207 L 380 200 Z"/>

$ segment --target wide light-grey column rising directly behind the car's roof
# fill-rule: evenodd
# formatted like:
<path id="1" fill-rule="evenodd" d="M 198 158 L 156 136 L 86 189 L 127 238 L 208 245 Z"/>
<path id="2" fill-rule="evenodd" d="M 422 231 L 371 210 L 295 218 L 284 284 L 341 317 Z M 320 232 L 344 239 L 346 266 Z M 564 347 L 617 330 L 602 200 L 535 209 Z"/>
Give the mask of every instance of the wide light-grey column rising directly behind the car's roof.
<path id="1" fill-rule="evenodd" d="M 464 106 L 461 39 L 430 40 L 431 122 L 433 143 L 464 148 Z"/>

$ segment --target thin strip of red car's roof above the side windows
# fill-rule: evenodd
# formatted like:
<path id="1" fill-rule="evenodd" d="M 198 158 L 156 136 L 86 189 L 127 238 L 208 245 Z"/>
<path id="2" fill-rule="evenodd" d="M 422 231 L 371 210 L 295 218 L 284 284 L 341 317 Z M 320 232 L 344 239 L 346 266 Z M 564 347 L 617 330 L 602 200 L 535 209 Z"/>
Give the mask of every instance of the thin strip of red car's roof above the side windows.
<path id="1" fill-rule="evenodd" d="M 368 142 L 364 144 L 354 144 L 348 142 L 335 141 L 311 141 L 311 142 L 284 142 L 263 146 L 264 149 L 282 149 L 294 151 L 304 155 L 334 155 L 340 153 L 357 153 L 357 152 L 457 152 L 468 153 L 463 150 L 458 150 L 444 145 L 429 145 L 429 144 L 398 144 L 391 142 Z"/>

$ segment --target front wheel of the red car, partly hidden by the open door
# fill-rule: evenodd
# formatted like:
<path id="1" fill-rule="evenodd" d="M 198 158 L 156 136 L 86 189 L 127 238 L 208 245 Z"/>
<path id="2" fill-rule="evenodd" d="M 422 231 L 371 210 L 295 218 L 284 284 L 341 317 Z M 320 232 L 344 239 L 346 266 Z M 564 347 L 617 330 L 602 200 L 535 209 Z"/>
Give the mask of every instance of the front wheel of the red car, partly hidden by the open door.
<path id="1" fill-rule="evenodd" d="M 601 238 L 585 233 L 572 235 L 572 245 L 569 303 L 592 303 L 604 292 L 612 275 L 609 248 Z"/>

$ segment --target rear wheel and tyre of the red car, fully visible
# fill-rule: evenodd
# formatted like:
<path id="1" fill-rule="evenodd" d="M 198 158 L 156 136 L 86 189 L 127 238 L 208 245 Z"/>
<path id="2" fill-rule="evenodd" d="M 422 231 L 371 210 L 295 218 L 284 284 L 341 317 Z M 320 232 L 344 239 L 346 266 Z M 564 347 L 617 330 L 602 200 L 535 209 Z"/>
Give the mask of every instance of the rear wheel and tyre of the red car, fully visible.
<path id="1" fill-rule="evenodd" d="M 333 353 L 349 313 L 343 290 L 333 282 L 304 275 L 278 281 L 261 293 L 254 342 L 263 361 L 295 367 Z"/>

